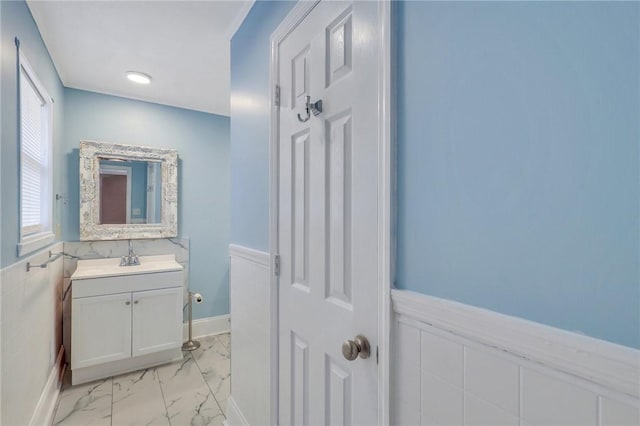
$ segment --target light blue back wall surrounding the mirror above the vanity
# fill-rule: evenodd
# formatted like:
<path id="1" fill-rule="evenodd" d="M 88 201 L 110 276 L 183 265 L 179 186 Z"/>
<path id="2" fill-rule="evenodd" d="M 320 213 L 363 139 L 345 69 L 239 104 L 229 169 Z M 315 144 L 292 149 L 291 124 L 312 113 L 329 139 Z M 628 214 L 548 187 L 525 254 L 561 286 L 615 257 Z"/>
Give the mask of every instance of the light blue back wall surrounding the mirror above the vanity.
<path id="1" fill-rule="evenodd" d="M 177 149 L 178 232 L 191 240 L 190 287 L 208 302 L 194 318 L 229 313 L 229 118 L 68 88 L 65 102 L 65 241 L 79 239 L 80 140 Z"/>

